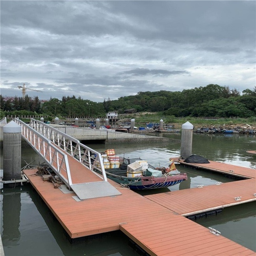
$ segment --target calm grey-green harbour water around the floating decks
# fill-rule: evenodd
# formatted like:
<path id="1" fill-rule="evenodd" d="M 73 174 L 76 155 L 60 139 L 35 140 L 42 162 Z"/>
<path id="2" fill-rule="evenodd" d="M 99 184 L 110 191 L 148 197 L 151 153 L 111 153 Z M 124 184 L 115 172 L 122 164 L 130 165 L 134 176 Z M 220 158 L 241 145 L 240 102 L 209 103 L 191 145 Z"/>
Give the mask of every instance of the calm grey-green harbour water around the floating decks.
<path id="1" fill-rule="evenodd" d="M 180 139 L 180 134 L 159 134 Z M 141 157 L 154 166 L 168 166 L 169 158 L 180 156 L 180 143 L 176 144 L 120 144 L 105 146 L 91 144 L 89 147 L 103 152 L 115 148 L 119 156 Z M 209 160 L 256 168 L 256 156 L 247 154 L 255 150 L 256 137 L 232 134 L 193 134 L 193 154 Z M 1 151 L 2 156 L 2 151 Z M 22 165 L 41 159 L 31 148 L 22 148 Z M 1 157 L 2 169 L 2 157 Z M 232 182 L 221 174 L 196 171 L 178 167 L 186 172 L 188 180 L 165 189 L 140 192 L 162 193 L 178 189 L 211 185 L 215 182 Z M 1 190 L 1 236 L 6 256 L 9 255 L 138 255 L 128 246 L 128 237 L 122 232 L 112 232 L 97 239 L 71 245 L 63 234 L 63 228 L 50 214 L 39 195 L 28 184 L 15 189 Z M 197 222 L 203 226 L 216 228 L 221 234 L 241 245 L 256 251 L 256 202 L 224 208 L 223 213 Z"/>

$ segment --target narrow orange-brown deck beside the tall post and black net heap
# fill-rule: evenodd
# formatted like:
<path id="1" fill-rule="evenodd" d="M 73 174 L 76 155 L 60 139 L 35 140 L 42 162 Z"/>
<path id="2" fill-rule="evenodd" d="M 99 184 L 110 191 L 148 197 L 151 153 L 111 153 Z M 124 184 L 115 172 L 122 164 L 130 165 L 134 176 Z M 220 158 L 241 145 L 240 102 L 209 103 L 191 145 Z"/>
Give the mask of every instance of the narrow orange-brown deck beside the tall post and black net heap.
<path id="1" fill-rule="evenodd" d="M 232 176 L 237 176 L 241 178 L 256 178 L 255 169 L 241 167 L 237 165 L 230 165 L 228 163 L 220 163 L 215 161 L 210 161 L 210 163 L 185 163 L 184 160 L 180 160 L 180 158 L 172 158 L 174 162 L 180 163 L 182 165 L 192 166 L 200 169 L 215 171 L 218 173 L 225 173 Z"/>

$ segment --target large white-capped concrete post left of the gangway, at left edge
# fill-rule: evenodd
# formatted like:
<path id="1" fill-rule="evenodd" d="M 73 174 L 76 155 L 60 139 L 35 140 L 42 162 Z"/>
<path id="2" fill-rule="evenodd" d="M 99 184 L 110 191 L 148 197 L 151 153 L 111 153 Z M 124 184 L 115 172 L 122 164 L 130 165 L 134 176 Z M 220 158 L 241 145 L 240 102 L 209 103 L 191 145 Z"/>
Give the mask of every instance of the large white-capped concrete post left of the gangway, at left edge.
<path id="1" fill-rule="evenodd" d="M 21 126 L 11 121 L 3 127 L 3 180 L 21 179 Z M 17 187 L 20 182 L 7 183 L 4 187 Z"/>

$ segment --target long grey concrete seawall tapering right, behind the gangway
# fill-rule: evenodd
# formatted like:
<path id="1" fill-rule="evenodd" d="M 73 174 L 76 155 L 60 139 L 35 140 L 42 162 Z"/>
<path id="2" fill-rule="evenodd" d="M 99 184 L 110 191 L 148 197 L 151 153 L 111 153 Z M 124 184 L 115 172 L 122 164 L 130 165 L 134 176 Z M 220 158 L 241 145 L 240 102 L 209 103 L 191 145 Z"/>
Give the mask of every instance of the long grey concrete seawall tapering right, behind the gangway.
<path id="1" fill-rule="evenodd" d="M 0 143 L 3 147 L 3 125 L 0 126 Z M 118 143 L 162 143 L 172 142 L 179 143 L 179 139 L 169 139 L 165 137 L 148 136 L 141 134 L 128 134 L 123 132 L 110 132 L 105 130 L 96 130 L 86 127 L 73 127 L 65 125 L 51 124 L 50 126 L 58 129 L 65 134 L 68 134 L 80 141 L 97 141 L 100 140 L 105 144 L 118 144 Z M 28 144 L 24 139 L 21 141 L 21 146 L 26 147 Z"/>

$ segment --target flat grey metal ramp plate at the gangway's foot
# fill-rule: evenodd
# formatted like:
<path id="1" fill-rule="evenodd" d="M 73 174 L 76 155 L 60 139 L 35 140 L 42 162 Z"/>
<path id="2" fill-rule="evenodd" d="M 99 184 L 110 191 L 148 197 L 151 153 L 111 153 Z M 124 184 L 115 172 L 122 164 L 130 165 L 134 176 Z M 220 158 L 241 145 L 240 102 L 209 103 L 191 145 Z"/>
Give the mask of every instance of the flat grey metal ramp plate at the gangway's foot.
<path id="1" fill-rule="evenodd" d="M 71 185 L 71 188 L 80 200 L 121 195 L 115 187 L 106 181 L 74 184 Z"/>

